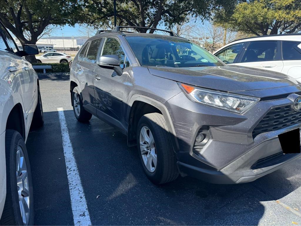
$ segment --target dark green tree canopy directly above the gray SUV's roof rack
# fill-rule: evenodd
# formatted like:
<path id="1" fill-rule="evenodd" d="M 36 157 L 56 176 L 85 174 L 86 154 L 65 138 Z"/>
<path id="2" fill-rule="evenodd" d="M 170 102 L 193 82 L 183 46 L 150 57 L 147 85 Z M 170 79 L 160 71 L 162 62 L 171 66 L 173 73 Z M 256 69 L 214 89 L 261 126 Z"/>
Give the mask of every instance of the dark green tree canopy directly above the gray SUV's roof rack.
<path id="1" fill-rule="evenodd" d="M 181 24 L 191 16 L 202 19 L 209 18 L 214 7 L 221 6 L 223 0 L 119 0 L 117 14 L 119 23 L 129 26 L 156 28 L 159 24 L 172 28 L 174 24 Z M 86 5 L 87 24 L 108 24 L 114 15 L 113 0 L 84 0 Z M 147 32 L 146 29 L 136 29 Z M 150 30 L 153 33 L 154 30 Z"/>

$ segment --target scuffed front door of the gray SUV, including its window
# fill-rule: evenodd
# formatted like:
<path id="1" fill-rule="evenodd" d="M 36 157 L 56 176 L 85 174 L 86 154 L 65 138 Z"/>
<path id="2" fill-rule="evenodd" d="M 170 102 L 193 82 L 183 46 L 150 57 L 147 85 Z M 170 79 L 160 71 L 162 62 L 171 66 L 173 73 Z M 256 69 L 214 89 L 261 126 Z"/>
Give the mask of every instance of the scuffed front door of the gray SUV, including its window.
<path id="1" fill-rule="evenodd" d="M 123 74 L 118 76 L 112 68 L 95 67 L 96 114 L 99 118 L 108 119 L 117 127 L 122 127 L 125 82 L 130 70 L 130 63 L 119 41 L 113 37 L 105 39 L 101 55 L 118 55 Z"/>

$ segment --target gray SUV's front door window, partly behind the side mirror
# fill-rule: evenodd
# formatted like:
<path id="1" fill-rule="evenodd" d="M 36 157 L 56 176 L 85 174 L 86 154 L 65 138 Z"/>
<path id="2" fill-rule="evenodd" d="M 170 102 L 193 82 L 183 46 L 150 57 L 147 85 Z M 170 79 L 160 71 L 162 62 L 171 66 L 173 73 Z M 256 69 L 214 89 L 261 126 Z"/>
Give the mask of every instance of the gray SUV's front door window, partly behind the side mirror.
<path id="1" fill-rule="evenodd" d="M 117 39 L 107 38 L 101 55 L 117 55 L 119 57 L 120 67 L 129 67 L 129 61 L 126 59 L 123 49 Z"/>

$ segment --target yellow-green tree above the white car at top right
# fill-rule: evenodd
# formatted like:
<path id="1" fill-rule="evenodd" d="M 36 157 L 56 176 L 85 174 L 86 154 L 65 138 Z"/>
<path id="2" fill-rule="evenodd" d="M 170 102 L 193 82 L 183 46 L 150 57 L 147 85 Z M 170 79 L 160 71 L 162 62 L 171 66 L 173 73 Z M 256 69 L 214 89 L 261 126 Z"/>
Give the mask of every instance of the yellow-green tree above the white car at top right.
<path id="1" fill-rule="evenodd" d="M 257 36 L 295 33 L 301 30 L 301 1 L 240 1 L 232 11 L 217 12 L 215 21 Z"/>

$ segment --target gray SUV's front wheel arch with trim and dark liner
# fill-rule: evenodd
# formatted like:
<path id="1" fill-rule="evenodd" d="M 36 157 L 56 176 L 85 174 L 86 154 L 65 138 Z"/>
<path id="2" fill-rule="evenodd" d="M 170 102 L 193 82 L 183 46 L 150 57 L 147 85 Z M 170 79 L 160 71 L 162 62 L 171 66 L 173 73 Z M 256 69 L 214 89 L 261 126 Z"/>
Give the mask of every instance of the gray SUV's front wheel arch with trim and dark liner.
<path id="1" fill-rule="evenodd" d="M 137 114 L 137 112 L 139 113 Z M 179 146 L 175 136 L 175 129 L 173 127 L 172 120 L 166 106 L 157 100 L 138 94 L 132 96 L 128 104 L 128 109 L 126 113 L 126 121 L 128 122 L 128 130 L 127 130 L 128 146 L 136 145 L 137 125 L 141 116 L 148 113 L 154 113 L 154 112 L 163 115 L 163 118 L 168 128 L 167 132 L 169 138 L 172 141 L 172 146 L 175 151 L 178 150 Z"/>

